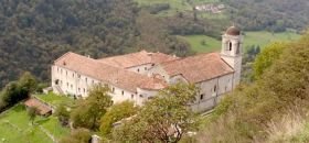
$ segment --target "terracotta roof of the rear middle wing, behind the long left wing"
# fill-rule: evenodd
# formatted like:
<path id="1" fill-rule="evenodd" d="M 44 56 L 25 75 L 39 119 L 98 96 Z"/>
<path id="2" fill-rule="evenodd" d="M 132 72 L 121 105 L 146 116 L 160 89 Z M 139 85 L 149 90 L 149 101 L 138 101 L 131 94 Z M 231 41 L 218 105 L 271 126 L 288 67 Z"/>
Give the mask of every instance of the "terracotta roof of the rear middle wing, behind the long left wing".
<path id="1" fill-rule="evenodd" d="M 170 56 L 163 53 L 149 53 L 146 51 L 141 51 L 127 55 L 102 58 L 99 59 L 99 62 L 111 66 L 129 68 L 146 64 L 159 64 L 174 59 L 178 59 L 178 57 Z"/>

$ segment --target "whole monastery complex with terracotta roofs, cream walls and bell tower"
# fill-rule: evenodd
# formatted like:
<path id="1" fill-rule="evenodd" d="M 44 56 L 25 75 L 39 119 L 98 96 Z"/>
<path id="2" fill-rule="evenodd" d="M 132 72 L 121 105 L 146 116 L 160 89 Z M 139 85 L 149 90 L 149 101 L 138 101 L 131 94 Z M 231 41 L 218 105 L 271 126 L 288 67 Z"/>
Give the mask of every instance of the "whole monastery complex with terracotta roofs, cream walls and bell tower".
<path id="1" fill-rule="evenodd" d="M 86 98 L 92 86 L 102 84 L 110 87 L 114 102 L 130 100 L 142 106 L 159 90 L 183 81 L 201 89 L 193 110 L 206 111 L 239 84 L 242 42 L 241 31 L 232 26 L 222 36 L 220 53 L 184 58 L 141 51 L 94 59 L 68 52 L 52 65 L 53 91 Z"/>

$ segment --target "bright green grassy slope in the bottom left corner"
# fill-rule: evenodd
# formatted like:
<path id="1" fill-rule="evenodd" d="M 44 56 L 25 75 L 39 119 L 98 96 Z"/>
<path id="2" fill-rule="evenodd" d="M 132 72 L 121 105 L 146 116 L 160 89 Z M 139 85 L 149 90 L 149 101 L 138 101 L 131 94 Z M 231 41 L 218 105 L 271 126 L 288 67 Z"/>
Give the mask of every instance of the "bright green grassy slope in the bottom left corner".
<path id="1" fill-rule="evenodd" d="M 54 117 L 46 119 L 38 117 L 35 125 L 31 125 L 25 108 L 18 105 L 0 114 L 0 141 L 4 139 L 9 143 L 52 143 L 52 140 L 38 125 L 42 125 L 58 139 L 68 133 L 68 129 L 62 128 Z"/>

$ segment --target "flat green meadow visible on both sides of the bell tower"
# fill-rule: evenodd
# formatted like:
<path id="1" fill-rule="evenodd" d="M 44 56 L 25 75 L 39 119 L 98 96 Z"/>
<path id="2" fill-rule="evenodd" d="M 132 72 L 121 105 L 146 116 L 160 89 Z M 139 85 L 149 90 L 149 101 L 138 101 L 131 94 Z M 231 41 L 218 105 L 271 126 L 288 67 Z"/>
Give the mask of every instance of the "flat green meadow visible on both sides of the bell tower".
<path id="1" fill-rule="evenodd" d="M 189 35 L 189 36 L 178 36 L 179 38 L 185 40 L 191 45 L 192 50 L 199 53 L 214 52 L 221 50 L 221 41 L 205 36 L 205 35 Z M 289 32 L 271 34 L 266 31 L 260 32 L 246 32 L 244 37 L 244 47 L 251 45 L 259 45 L 264 47 L 268 43 L 277 41 L 291 41 L 299 38 L 300 35 Z M 205 45 L 202 45 L 202 41 L 205 41 Z"/>

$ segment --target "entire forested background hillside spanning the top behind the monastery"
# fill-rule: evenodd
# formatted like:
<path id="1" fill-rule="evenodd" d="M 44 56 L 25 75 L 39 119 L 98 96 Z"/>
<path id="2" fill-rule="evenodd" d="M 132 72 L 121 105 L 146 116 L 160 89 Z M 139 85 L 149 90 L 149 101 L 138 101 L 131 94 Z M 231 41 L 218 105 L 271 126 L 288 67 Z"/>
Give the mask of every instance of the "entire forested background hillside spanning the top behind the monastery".
<path id="1" fill-rule="evenodd" d="M 205 3 L 226 9 L 194 9 Z M 232 23 L 299 32 L 309 21 L 307 7 L 307 0 L 1 0 L 0 88 L 25 70 L 47 81 L 53 59 L 67 51 L 95 58 L 141 48 L 185 56 L 196 43 L 179 35 L 220 40 Z"/>

